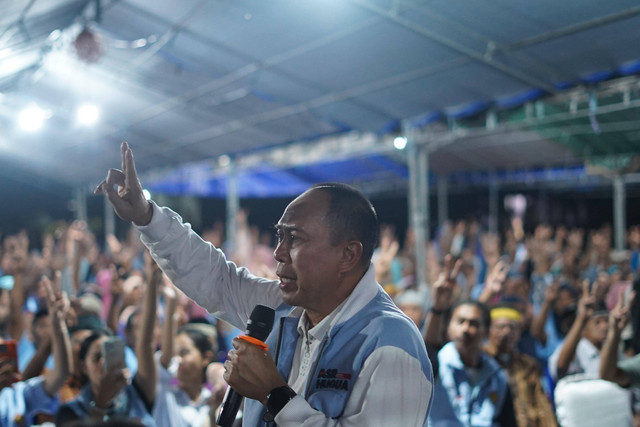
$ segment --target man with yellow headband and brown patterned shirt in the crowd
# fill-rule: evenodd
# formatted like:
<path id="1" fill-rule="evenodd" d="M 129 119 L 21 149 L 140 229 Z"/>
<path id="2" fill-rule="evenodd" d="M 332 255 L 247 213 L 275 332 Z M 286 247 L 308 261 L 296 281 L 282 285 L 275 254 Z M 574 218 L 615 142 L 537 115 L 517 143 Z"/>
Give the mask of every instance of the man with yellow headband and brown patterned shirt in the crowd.
<path id="1" fill-rule="evenodd" d="M 492 308 L 485 351 L 507 372 L 518 426 L 552 427 L 556 419 L 542 388 L 538 362 L 517 349 L 521 326 L 522 313 L 515 308 L 508 305 Z"/>

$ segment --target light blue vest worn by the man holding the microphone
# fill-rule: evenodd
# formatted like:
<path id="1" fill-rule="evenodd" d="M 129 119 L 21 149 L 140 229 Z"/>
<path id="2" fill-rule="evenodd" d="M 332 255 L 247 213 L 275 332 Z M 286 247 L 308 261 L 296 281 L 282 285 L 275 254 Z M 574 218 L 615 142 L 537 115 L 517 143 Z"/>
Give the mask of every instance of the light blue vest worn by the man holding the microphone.
<path id="1" fill-rule="evenodd" d="M 281 305 L 276 310 L 276 324 L 266 340 L 278 371 L 288 379 L 298 341 L 299 318 L 287 317 L 292 307 Z M 305 399 L 318 411 L 339 418 L 353 389 L 354 382 L 367 357 L 377 348 L 401 348 L 418 359 L 422 372 L 433 384 L 431 363 L 418 329 L 379 288 L 378 294 L 355 316 L 335 325 L 320 344 L 318 356 L 309 373 Z M 384 387 L 380 384 L 379 387 Z M 425 397 L 426 398 L 426 397 Z M 427 407 L 426 417 L 431 402 Z M 264 426 L 266 408 L 258 401 L 245 401 L 244 426 Z"/>

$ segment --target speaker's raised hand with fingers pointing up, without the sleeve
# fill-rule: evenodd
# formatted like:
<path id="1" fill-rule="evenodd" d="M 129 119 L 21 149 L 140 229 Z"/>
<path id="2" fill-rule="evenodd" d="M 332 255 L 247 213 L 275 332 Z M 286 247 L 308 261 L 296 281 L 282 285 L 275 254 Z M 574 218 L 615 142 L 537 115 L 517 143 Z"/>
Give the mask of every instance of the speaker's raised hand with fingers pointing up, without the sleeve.
<path id="1" fill-rule="evenodd" d="M 109 169 L 107 177 L 98 185 L 95 194 L 106 194 L 116 214 L 124 221 L 147 225 L 151 221 L 153 208 L 142 192 L 129 144 L 123 142 L 120 145 L 120 154 L 122 170 Z"/>

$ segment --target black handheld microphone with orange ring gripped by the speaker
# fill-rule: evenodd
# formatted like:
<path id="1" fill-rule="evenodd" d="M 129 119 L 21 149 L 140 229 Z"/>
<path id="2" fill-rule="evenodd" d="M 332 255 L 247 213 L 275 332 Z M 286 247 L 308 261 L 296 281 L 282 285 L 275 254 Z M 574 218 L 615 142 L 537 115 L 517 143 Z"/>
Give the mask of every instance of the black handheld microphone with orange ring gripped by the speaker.
<path id="1" fill-rule="evenodd" d="M 249 321 L 247 322 L 247 330 L 244 333 L 259 341 L 264 341 L 271 333 L 273 329 L 273 321 L 275 318 L 275 311 L 272 308 L 264 305 L 256 305 L 251 312 Z M 251 342 L 249 340 L 249 342 Z M 222 409 L 218 414 L 216 424 L 221 427 L 231 427 L 240 409 L 243 396 L 236 392 L 231 387 L 227 387 L 227 391 L 222 400 Z"/>

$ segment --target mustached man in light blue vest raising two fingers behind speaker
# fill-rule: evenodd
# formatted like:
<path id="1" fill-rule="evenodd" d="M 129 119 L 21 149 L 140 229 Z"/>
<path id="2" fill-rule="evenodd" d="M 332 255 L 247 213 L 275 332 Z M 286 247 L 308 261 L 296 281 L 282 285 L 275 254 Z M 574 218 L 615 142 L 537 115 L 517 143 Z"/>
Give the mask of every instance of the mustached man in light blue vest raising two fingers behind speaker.
<path id="1" fill-rule="evenodd" d="M 434 427 L 516 426 L 507 377 L 482 342 L 490 324 L 489 310 L 477 301 L 454 304 L 455 277 L 451 256 L 433 284 L 433 306 L 427 315 L 425 342 L 436 376 Z M 451 313 L 447 323 L 444 317 Z M 446 341 L 444 327 L 447 325 Z"/>

